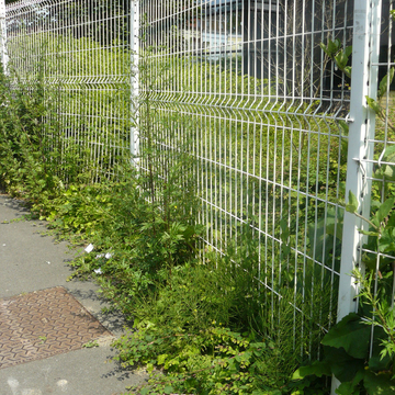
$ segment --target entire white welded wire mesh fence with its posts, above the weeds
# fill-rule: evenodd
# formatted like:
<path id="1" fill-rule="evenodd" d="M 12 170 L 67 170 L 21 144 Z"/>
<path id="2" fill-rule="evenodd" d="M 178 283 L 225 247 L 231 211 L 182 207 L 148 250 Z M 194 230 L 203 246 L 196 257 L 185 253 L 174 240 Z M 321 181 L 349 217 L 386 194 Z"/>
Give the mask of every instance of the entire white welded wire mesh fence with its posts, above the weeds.
<path id="1" fill-rule="evenodd" d="M 371 196 L 392 191 L 390 79 L 390 116 L 375 125 L 365 103 L 394 66 L 391 10 L 385 0 L 18 1 L 7 46 L 19 77 L 42 75 L 55 98 L 53 144 L 76 143 L 93 179 L 123 153 L 138 159 L 148 143 L 137 123 L 155 131 L 165 178 L 169 151 L 194 158 L 180 171 L 202 202 L 204 250 L 232 248 L 262 290 L 267 330 L 291 306 L 294 347 L 316 359 L 337 312 L 357 309 L 352 266 L 393 259 L 362 253 L 363 225 L 343 208 L 348 190 L 368 216 Z"/>

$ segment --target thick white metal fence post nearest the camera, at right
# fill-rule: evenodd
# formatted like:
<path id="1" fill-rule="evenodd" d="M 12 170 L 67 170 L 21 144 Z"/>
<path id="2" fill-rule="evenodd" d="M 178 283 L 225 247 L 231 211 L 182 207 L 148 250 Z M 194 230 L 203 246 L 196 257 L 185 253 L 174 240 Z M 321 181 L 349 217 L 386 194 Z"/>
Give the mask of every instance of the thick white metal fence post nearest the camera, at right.
<path id="1" fill-rule="evenodd" d="M 381 0 L 354 2 L 346 195 L 352 192 L 357 196 L 358 211 L 365 218 L 370 217 L 371 208 L 375 132 L 375 114 L 369 109 L 366 97 L 376 99 L 377 95 L 377 68 L 372 67 L 372 64 L 379 61 L 381 9 Z M 338 321 L 358 311 L 358 285 L 351 271 L 354 268 L 364 271 L 361 256 L 365 238 L 359 229 L 365 227 L 365 222 L 345 212 Z M 334 377 L 331 394 L 335 394 L 338 385 L 338 380 Z"/>

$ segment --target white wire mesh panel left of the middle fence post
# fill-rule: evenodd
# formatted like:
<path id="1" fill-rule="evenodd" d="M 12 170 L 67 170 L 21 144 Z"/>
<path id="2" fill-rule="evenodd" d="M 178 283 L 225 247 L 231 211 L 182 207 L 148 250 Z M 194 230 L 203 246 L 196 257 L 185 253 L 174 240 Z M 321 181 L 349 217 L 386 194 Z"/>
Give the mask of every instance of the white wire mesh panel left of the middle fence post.
<path id="1" fill-rule="evenodd" d="M 10 69 L 44 88 L 50 149 L 79 153 L 67 177 L 81 167 L 92 180 L 111 174 L 129 149 L 128 1 L 18 1 L 7 32 Z"/>

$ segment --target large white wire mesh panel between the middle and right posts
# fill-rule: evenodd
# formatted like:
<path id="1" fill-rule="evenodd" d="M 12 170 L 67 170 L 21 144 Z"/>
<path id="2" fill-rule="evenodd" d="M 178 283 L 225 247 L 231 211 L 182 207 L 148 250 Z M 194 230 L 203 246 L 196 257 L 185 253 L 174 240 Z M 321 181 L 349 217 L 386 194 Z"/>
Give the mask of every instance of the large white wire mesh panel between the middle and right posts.
<path id="1" fill-rule="evenodd" d="M 336 319 L 347 160 L 338 121 L 350 98 L 320 43 L 351 45 L 352 5 L 150 0 L 140 11 L 144 61 L 161 81 L 140 88 L 158 116 L 189 119 L 168 133 L 193 140 L 206 249 L 233 246 L 264 294 L 268 330 L 291 323 L 295 348 L 312 358 Z"/>

